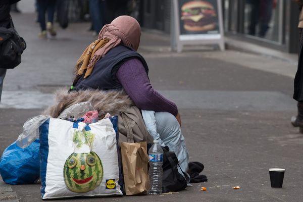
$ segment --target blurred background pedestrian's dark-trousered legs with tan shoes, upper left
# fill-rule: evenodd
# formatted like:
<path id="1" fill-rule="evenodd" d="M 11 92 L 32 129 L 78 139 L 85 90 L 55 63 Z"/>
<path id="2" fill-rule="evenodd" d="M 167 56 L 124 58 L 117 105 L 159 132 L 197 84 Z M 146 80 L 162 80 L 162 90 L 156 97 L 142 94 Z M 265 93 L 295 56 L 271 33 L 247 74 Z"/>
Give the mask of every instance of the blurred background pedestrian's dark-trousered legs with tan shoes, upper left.
<path id="1" fill-rule="evenodd" d="M 38 21 L 40 23 L 41 32 L 39 38 L 46 38 L 46 30 L 52 36 L 56 36 L 57 32 L 54 28 L 54 15 L 56 8 L 56 0 L 37 0 Z M 45 24 L 45 14 L 47 11 L 47 23 Z"/>

